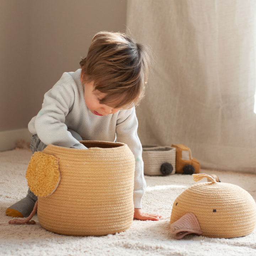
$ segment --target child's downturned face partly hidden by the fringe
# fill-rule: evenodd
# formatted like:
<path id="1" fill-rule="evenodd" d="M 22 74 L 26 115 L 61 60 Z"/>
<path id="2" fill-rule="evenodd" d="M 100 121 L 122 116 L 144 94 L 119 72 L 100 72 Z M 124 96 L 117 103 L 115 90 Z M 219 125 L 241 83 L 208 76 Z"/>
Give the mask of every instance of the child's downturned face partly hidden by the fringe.
<path id="1" fill-rule="evenodd" d="M 119 108 L 114 108 L 101 104 L 100 100 L 106 96 L 98 90 L 94 91 L 94 81 L 87 82 L 84 85 L 84 97 L 86 106 L 90 111 L 97 116 L 106 116 L 107 114 L 114 114 L 119 111 Z"/>

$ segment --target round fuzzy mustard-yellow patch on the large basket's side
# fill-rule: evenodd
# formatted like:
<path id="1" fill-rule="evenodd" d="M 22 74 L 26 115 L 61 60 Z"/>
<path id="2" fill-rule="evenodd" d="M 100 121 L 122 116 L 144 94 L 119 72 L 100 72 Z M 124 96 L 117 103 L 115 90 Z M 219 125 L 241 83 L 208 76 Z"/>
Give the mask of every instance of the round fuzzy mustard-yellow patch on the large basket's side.
<path id="1" fill-rule="evenodd" d="M 59 159 L 42 151 L 35 152 L 28 164 L 26 178 L 36 196 L 50 196 L 60 181 Z"/>

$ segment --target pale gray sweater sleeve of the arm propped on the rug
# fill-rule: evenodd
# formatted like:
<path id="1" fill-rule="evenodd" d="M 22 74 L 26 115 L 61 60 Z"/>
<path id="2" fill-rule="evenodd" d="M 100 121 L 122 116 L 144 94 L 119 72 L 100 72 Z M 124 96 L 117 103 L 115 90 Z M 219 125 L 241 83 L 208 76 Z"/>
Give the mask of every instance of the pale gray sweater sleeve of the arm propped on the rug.
<path id="1" fill-rule="evenodd" d="M 116 134 L 117 141 L 129 146 L 135 158 L 134 174 L 134 208 L 142 208 L 142 197 L 145 193 L 146 181 L 143 172 L 142 145 L 138 134 L 138 120 L 135 113 L 135 107 L 123 110 L 117 121 Z"/>

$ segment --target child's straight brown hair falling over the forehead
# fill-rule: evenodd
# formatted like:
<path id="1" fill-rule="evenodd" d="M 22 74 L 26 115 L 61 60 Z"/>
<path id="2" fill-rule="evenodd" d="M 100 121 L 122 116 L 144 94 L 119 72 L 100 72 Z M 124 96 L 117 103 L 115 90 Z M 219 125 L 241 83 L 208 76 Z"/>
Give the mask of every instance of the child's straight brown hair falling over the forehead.
<path id="1" fill-rule="evenodd" d="M 82 59 L 83 82 L 94 81 L 94 90 L 105 93 L 101 104 L 116 108 L 138 105 L 148 79 L 151 49 L 124 33 L 98 32 L 87 57 Z"/>

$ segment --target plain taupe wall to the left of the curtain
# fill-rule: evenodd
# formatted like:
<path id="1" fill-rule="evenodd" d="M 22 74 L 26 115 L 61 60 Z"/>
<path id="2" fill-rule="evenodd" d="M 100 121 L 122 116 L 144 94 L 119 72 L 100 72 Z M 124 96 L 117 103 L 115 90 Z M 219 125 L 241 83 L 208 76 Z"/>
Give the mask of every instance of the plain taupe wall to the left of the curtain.
<path id="1" fill-rule="evenodd" d="M 0 0 L 0 132 L 26 128 L 43 94 L 79 68 L 92 36 L 126 29 L 127 0 Z"/>

